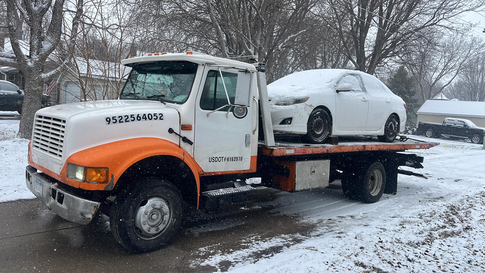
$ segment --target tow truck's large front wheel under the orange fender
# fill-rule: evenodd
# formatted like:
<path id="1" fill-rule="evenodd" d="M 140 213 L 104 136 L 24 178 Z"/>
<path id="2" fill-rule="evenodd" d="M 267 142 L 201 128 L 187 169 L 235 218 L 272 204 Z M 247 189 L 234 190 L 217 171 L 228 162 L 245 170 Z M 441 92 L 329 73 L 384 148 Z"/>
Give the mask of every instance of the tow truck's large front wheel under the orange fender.
<path id="1" fill-rule="evenodd" d="M 145 253 L 162 248 L 182 224 L 182 196 L 161 179 L 134 183 L 113 203 L 110 225 L 114 238 L 126 249 Z"/>

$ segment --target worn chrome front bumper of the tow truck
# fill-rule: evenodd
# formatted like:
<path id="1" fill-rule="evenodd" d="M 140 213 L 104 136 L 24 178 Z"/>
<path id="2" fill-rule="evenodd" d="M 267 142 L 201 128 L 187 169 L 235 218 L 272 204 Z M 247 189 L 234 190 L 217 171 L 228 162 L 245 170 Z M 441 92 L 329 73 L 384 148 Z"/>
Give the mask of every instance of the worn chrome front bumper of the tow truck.
<path id="1" fill-rule="evenodd" d="M 27 188 L 46 204 L 50 210 L 69 222 L 89 224 L 96 215 L 99 202 L 81 198 L 62 188 L 57 180 L 38 173 L 32 166 L 27 166 L 25 172 Z M 37 186 L 36 188 L 36 185 Z"/>

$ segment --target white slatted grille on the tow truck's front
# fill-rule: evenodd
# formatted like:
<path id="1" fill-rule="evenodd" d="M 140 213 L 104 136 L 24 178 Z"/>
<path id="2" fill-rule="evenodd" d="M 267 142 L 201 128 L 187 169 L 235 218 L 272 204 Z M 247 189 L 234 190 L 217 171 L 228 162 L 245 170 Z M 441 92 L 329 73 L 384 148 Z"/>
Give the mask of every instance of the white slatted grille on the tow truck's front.
<path id="1" fill-rule="evenodd" d="M 61 160 L 64 145 L 64 131 L 65 119 L 35 115 L 32 149 Z"/>

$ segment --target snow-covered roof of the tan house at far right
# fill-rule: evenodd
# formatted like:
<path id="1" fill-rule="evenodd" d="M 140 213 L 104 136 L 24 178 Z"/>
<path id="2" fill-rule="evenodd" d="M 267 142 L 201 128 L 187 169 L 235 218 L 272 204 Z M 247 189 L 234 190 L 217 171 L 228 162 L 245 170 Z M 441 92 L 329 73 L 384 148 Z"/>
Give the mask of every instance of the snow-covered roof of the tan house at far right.
<path id="1" fill-rule="evenodd" d="M 485 117 L 485 102 L 427 100 L 418 114 Z"/>

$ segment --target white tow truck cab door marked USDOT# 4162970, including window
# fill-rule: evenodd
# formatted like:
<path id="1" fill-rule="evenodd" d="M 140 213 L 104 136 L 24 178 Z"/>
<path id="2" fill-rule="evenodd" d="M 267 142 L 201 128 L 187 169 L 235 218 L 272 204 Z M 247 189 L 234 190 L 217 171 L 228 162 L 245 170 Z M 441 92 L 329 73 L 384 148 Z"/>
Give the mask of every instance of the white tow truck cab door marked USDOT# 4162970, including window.
<path id="1" fill-rule="evenodd" d="M 223 106 L 228 104 L 227 97 L 234 103 L 236 90 L 249 90 L 251 78 L 251 72 L 237 68 L 205 67 L 195 102 L 194 136 L 194 158 L 204 172 L 250 169 L 251 137 L 257 122 L 251 115 L 254 101 L 248 100 L 248 114 L 239 117 Z"/>

